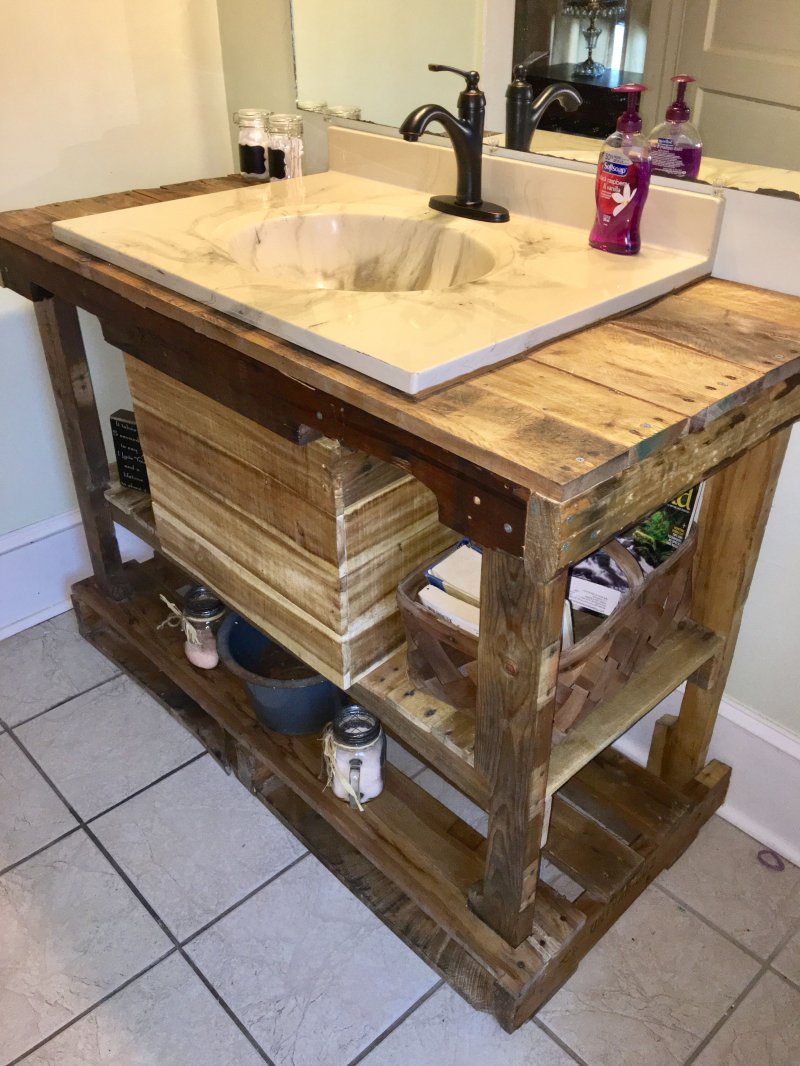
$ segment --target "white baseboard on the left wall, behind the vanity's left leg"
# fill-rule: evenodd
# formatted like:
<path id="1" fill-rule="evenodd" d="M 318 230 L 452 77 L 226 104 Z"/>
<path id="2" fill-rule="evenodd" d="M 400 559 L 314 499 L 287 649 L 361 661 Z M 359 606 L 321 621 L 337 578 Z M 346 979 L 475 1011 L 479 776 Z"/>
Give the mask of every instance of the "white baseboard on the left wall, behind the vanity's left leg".
<path id="1" fill-rule="evenodd" d="M 132 533 L 116 532 L 123 559 L 150 558 Z M 77 510 L 0 536 L 0 640 L 68 611 L 69 586 L 91 572 Z"/>

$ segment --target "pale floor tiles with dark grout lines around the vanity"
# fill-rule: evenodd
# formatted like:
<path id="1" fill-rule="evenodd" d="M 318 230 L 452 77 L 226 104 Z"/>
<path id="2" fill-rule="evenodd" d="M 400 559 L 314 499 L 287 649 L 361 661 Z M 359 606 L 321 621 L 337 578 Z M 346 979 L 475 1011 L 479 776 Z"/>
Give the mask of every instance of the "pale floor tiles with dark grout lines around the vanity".
<path id="1" fill-rule="evenodd" d="M 508 1036 L 63 615 L 0 643 L 0 1066 L 798 1066 L 800 870 L 757 851 L 711 821 Z"/>

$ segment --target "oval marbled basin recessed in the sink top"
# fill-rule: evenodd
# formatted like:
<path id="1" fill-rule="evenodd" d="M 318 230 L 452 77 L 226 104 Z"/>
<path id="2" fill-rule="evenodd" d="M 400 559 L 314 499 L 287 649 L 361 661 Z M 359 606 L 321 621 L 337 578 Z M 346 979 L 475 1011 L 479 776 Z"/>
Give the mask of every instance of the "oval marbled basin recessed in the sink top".
<path id="1" fill-rule="evenodd" d="M 352 292 L 451 289 L 489 274 L 496 259 L 475 237 L 420 219 L 364 213 L 255 220 L 227 251 L 272 286 Z"/>

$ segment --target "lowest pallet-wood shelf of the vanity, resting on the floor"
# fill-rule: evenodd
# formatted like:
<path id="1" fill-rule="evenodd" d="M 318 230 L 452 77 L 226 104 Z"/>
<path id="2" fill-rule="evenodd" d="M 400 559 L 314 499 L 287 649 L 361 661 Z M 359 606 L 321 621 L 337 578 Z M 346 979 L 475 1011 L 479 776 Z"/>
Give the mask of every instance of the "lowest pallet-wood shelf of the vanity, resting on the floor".
<path id="1" fill-rule="evenodd" d="M 114 601 L 93 579 L 73 589 L 81 631 L 137 678 L 406 943 L 475 1006 L 515 1029 L 559 987 L 644 887 L 682 854 L 724 797 L 710 763 L 685 793 L 615 753 L 583 768 L 554 802 L 546 856 L 570 875 L 572 902 L 544 882 L 531 937 L 511 948 L 467 904 L 485 841 L 418 785 L 387 768 L 364 813 L 323 789 L 317 738 L 263 730 L 239 681 L 197 671 L 175 630 L 158 630 L 171 564 L 129 567 L 135 588 Z M 177 575 L 178 581 L 185 576 Z"/>

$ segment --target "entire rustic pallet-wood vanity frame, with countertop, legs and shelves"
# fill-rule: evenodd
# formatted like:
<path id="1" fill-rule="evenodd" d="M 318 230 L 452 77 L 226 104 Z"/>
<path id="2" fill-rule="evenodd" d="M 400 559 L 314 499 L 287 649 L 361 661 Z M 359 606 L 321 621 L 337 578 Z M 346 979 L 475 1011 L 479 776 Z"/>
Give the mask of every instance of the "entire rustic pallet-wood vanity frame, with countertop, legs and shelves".
<path id="1" fill-rule="evenodd" d="M 513 1030 L 723 801 L 730 769 L 706 762 L 707 750 L 800 418 L 800 300 L 704 280 L 412 400 L 50 233 L 53 220 L 238 183 L 0 216 L 0 270 L 35 305 L 94 568 L 73 591 L 81 630 L 467 1000 Z M 364 814 L 351 810 L 322 791 L 316 738 L 262 730 L 236 679 L 196 671 L 179 635 L 156 630 L 158 592 L 196 572 L 199 556 L 191 538 L 162 551 L 148 501 L 110 482 L 77 308 L 145 375 L 294 449 L 343 446 L 342 462 L 357 453 L 384 487 L 398 469 L 404 484 L 411 475 L 435 501 L 436 529 L 483 546 L 475 718 L 411 687 L 402 646 L 366 673 L 356 657 L 348 679 L 389 733 L 489 812 L 487 838 L 391 766 L 384 794 Z M 551 750 L 566 567 L 704 479 L 689 619 Z M 114 521 L 156 549 L 153 562 L 123 564 Z M 431 534 L 431 555 L 441 536 Z M 659 723 L 646 770 L 610 748 L 683 681 L 681 714 Z M 550 796 L 542 854 L 582 888 L 573 902 L 539 877 Z"/>

